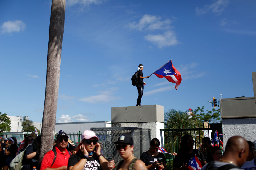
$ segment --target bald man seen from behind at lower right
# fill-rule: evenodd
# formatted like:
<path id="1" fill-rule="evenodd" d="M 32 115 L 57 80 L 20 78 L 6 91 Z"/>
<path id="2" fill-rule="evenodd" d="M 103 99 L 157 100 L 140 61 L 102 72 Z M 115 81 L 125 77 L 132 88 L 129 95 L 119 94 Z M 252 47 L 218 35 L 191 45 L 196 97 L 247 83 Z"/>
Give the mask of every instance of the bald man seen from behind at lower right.
<path id="1" fill-rule="evenodd" d="M 241 136 L 232 136 L 228 139 L 225 152 L 218 161 L 211 161 L 202 167 L 202 170 L 222 169 L 238 170 L 244 164 L 249 154 L 249 145 Z"/>

